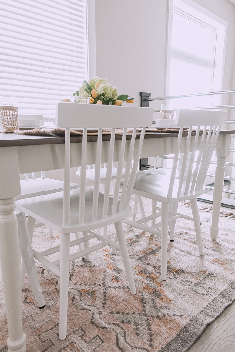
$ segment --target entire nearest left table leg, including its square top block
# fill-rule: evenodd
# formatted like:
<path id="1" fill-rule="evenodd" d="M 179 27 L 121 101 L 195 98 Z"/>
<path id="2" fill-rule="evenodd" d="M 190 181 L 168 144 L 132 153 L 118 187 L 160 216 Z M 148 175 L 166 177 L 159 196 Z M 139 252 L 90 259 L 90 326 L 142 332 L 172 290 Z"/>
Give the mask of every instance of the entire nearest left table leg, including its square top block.
<path id="1" fill-rule="evenodd" d="M 25 352 L 20 287 L 20 250 L 14 197 L 20 194 L 17 148 L 4 147 L 0 153 L 0 266 L 7 314 L 8 352 Z"/>

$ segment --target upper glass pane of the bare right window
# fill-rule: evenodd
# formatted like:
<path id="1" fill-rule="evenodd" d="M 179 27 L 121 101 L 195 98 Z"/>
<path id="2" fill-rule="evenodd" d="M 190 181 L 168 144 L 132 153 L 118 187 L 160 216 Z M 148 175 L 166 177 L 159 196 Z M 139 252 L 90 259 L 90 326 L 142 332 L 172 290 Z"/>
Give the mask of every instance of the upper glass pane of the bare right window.
<path id="1" fill-rule="evenodd" d="M 213 59 L 213 31 L 173 12 L 172 46 L 190 54 Z"/>

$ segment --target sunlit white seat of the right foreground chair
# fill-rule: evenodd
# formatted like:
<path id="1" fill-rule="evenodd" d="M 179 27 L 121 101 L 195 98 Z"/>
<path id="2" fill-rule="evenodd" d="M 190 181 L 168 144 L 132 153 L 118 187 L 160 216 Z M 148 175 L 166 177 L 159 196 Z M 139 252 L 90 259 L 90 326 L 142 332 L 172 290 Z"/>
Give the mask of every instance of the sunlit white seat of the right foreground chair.
<path id="1" fill-rule="evenodd" d="M 181 193 L 177 195 L 179 180 L 177 178 L 174 179 L 174 186 L 172 191 L 172 196 L 170 198 L 167 197 L 168 188 L 170 184 L 170 177 L 152 174 L 144 177 L 137 177 L 135 179 L 133 193 L 147 197 L 149 199 L 157 200 L 159 202 L 179 202 L 183 200 L 190 200 L 204 193 L 204 188 L 200 189 L 196 193 L 190 194 L 191 182 L 189 185 L 189 191 L 187 194 L 184 194 L 186 182 L 183 181 Z"/>

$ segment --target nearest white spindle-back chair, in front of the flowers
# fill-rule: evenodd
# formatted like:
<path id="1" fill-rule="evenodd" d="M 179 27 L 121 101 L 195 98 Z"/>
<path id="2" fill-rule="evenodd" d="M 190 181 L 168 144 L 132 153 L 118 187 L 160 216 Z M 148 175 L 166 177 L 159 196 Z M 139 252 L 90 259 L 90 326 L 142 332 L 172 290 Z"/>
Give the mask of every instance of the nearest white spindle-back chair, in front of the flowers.
<path id="1" fill-rule="evenodd" d="M 121 250 L 131 293 L 136 293 L 121 220 L 132 212 L 129 202 L 145 134 L 145 127 L 142 128 L 140 135 L 136 135 L 136 128 L 148 126 L 152 122 L 152 118 L 152 108 L 117 108 L 109 105 L 59 102 L 56 124 L 58 127 L 65 128 L 64 190 L 16 202 L 17 208 L 22 212 L 61 233 L 60 246 L 50 248 L 42 253 L 33 250 L 34 257 L 60 277 L 59 338 L 61 340 L 66 338 L 69 262 L 71 260 L 85 255 L 85 260 L 88 261 L 90 253 L 107 245 L 114 246 Z M 87 143 L 87 128 L 91 127 L 99 130 L 97 142 Z M 120 127 L 123 127 L 122 139 L 115 143 L 115 128 Z M 133 127 L 131 140 L 126 139 L 128 127 Z M 73 143 L 71 146 L 75 160 L 81 162 L 80 189 L 75 190 L 70 190 L 70 128 L 83 128 L 81 143 L 76 143 L 76 145 Z M 102 142 L 102 128 L 112 128 L 110 141 Z M 107 160 L 105 160 L 106 158 Z M 132 159 L 134 159 L 133 166 Z M 107 161 L 104 194 L 99 192 L 100 168 L 103 160 Z M 118 162 L 118 171 L 114 195 L 110 197 L 114 161 Z M 126 161 L 126 171 L 119 200 L 124 161 Z M 86 169 L 90 164 L 95 164 L 94 189 L 85 187 Z M 113 223 L 119 243 L 94 231 L 96 228 Z M 83 238 L 70 241 L 70 233 L 73 232 L 82 232 Z M 30 239 L 26 238 L 27 234 L 24 232 L 22 235 L 25 236 L 27 246 L 30 246 Z M 89 247 L 89 240 L 93 238 L 99 239 L 101 243 Z M 84 243 L 84 250 L 69 254 L 70 247 L 78 243 Z M 25 251 L 24 258 L 27 258 L 25 247 L 21 250 Z M 45 256 L 59 251 L 60 259 L 50 262 L 45 258 Z"/>

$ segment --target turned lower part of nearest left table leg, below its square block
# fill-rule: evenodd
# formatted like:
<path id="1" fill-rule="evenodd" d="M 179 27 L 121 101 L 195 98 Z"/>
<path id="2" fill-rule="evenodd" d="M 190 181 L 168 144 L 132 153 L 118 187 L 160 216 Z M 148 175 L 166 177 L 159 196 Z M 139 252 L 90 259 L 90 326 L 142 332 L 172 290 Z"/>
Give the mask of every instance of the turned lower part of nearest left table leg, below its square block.
<path id="1" fill-rule="evenodd" d="M 7 314 L 8 352 L 25 352 L 20 290 L 20 252 L 14 198 L 0 200 L 0 266 Z"/>

